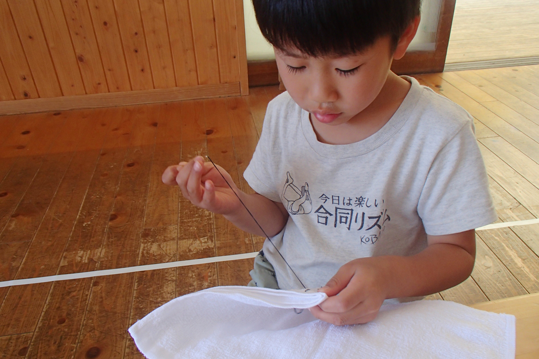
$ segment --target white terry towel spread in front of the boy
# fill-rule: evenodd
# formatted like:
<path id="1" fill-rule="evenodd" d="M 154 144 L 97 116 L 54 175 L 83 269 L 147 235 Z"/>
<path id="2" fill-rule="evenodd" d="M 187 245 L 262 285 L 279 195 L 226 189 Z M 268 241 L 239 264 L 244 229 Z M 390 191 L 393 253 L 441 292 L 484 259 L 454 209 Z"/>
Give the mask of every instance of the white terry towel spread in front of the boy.
<path id="1" fill-rule="evenodd" d="M 129 328 L 149 359 L 515 357 L 515 317 L 443 300 L 384 305 L 363 325 L 338 327 L 301 308 L 315 291 L 213 287 L 155 309 Z M 297 309 L 294 309 L 297 308 Z"/>

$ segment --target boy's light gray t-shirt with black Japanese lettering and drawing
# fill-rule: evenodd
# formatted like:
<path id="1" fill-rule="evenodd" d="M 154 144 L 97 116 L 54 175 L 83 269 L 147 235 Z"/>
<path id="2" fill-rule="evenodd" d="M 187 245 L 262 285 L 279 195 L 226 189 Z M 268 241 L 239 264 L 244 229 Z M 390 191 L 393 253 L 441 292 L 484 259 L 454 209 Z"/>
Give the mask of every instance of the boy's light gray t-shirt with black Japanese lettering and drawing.
<path id="1" fill-rule="evenodd" d="M 326 284 L 363 257 L 417 254 L 426 235 L 496 220 L 472 117 L 419 85 L 382 129 L 360 142 L 324 144 L 309 113 L 288 95 L 274 98 L 244 177 L 290 214 L 271 238 L 307 288 Z M 268 240 L 264 254 L 279 287 L 300 288 Z"/>

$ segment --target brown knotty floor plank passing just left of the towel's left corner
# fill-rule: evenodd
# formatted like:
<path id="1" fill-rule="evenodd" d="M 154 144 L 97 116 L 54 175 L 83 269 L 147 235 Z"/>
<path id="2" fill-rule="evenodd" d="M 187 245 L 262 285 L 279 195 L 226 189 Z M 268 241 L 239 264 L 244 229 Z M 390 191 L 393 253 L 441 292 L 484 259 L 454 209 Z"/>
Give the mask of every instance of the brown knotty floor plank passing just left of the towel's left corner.
<path id="1" fill-rule="evenodd" d="M 114 196 L 98 270 L 134 266 L 139 258 L 141 232 L 157 127 L 149 116 L 157 105 L 127 111 L 133 130 Z M 75 358 L 98 351 L 123 357 L 127 344 L 136 273 L 100 277 L 92 286 Z M 99 285 L 95 285 L 95 282 Z M 96 349 L 97 348 L 97 349 Z"/>

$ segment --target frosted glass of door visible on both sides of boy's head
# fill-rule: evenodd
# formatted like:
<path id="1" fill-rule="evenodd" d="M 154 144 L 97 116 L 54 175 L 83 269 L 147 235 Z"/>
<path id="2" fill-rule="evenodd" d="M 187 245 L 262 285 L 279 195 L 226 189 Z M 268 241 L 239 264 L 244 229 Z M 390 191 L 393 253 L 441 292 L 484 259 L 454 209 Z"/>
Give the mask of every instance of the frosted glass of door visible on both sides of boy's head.
<path id="1" fill-rule="evenodd" d="M 443 0 L 423 0 L 421 4 L 421 22 L 416 37 L 412 40 L 408 51 L 434 51 L 438 20 Z M 243 2 L 245 14 L 245 40 L 247 42 L 247 60 L 275 59 L 273 47 L 268 44 L 258 29 L 257 19 L 254 17 L 251 0 Z"/>

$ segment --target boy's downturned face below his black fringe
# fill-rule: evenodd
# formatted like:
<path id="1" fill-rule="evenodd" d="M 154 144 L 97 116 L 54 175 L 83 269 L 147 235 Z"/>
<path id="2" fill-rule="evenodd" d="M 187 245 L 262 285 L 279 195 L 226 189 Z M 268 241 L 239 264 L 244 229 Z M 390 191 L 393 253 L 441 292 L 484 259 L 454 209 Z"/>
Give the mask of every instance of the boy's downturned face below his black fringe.
<path id="1" fill-rule="evenodd" d="M 282 82 L 293 100 L 320 123 L 356 119 L 375 101 L 390 73 L 389 36 L 347 57 L 308 57 L 295 48 L 275 49 Z"/>

